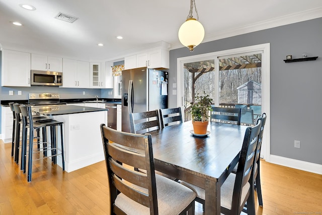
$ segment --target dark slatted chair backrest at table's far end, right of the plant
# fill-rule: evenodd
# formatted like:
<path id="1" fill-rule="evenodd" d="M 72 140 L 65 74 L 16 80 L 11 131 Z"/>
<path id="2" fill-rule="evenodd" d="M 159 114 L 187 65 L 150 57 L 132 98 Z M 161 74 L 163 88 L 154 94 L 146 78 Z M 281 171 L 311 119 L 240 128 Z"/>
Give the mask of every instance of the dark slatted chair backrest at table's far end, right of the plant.
<path id="1" fill-rule="evenodd" d="M 211 106 L 210 120 L 240 125 L 240 108 Z"/>

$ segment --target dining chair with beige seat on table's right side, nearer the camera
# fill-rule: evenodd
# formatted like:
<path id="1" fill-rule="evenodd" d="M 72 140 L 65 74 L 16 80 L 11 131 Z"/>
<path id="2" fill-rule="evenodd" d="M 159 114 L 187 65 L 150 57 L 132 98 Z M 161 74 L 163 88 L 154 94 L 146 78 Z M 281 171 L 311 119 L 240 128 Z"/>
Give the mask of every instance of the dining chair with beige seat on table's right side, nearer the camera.
<path id="1" fill-rule="evenodd" d="M 246 202 L 248 214 L 255 214 L 254 159 L 261 125 L 262 122 L 258 121 L 257 125 L 246 129 L 239 154 L 237 172 L 236 174 L 230 173 L 221 185 L 220 204 L 223 214 L 240 214 Z M 196 201 L 204 205 L 204 189 L 185 181 L 181 181 L 181 184 L 194 190 L 197 194 Z"/>

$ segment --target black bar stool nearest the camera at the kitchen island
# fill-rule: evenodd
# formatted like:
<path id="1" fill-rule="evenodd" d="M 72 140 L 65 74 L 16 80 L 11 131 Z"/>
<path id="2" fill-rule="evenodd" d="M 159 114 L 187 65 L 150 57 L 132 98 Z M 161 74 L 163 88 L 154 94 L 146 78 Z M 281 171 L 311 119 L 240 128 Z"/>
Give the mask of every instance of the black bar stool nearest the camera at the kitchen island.
<path id="1" fill-rule="evenodd" d="M 32 111 L 31 111 L 31 107 L 30 106 L 25 106 L 25 105 L 20 105 L 20 110 L 22 113 L 22 116 L 24 117 L 24 139 L 23 139 L 23 144 L 22 144 L 22 148 L 23 148 L 23 154 L 24 154 L 24 159 L 22 161 L 23 166 L 23 170 L 24 173 L 26 172 L 26 155 L 27 155 L 27 138 L 26 138 L 26 134 L 28 132 L 28 128 L 29 128 L 29 151 L 28 151 L 28 176 L 27 176 L 27 180 L 28 182 L 31 182 L 31 176 L 32 176 L 32 156 L 33 156 L 33 137 L 34 137 L 34 129 L 36 128 L 44 128 L 49 126 L 50 127 L 50 140 L 51 140 L 51 147 L 50 149 L 43 148 L 43 151 L 51 151 L 51 156 L 47 156 L 47 158 L 51 157 L 52 158 L 52 162 L 54 164 L 57 164 L 57 156 L 61 155 L 61 159 L 62 159 L 62 170 L 65 171 L 65 162 L 64 162 L 64 148 L 63 148 L 63 130 L 62 130 L 62 125 L 63 122 L 51 119 L 51 120 L 47 120 L 47 121 L 34 121 L 33 120 L 33 116 L 32 116 Z M 29 120 L 27 120 L 29 119 Z M 28 123 L 29 121 L 29 123 Z M 56 143 L 56 127 L 59 126 L 60 127 L 60 144 L 61 144 L 61 149 L 57 148 L 57 143 Z M 60 151 L 59 154 L 57 154 L 57 150 Z M 39 158 L 39 159 L 44 159 L 44 158 Z M 36 159 L 36 160 L 39 160 Z"/>

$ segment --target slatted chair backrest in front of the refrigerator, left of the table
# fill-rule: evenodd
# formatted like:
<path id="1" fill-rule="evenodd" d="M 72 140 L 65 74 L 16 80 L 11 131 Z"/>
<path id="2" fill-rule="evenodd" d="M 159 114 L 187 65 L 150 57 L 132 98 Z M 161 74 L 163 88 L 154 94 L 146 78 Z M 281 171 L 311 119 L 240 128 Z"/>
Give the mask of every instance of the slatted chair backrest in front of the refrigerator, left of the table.
<path id="1" fill-rule="evenodd" d="M 131 133 L 146 133 L 160 129 L 158 110 L 130 113 Z"/>

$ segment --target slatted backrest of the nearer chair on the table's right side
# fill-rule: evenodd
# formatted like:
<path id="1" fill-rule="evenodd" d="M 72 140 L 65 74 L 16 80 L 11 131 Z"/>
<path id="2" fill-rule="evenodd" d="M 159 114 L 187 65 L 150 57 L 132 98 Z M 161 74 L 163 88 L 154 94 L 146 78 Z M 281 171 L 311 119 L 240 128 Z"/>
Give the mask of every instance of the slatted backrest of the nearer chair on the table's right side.
<path id="1" fill-rule="evenodd" d="M 238 211 L 238 214 L 243 210 L 251 189 L 254 187 L 253 167 L 261 126 L 262 122 L 258 121 L 257 125 L 246 129 L 243 146 L 241 147 L 231 204 L 231 210 Z M 243 188 L 247 183 L 249 183 L 249 189 L 245 198 L 241 199 L 243 197 L 242 193 L 245 192 Z"/>

